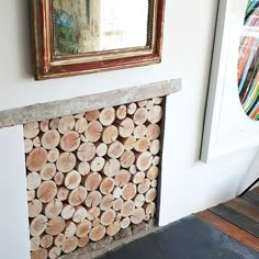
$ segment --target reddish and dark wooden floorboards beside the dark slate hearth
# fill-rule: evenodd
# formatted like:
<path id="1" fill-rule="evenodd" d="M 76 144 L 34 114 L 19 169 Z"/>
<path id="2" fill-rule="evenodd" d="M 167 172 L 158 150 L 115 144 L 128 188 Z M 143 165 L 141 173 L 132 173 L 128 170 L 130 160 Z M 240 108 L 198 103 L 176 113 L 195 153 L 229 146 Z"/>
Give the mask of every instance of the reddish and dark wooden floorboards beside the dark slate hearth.
<path id="1" fill-rule="evenodd" d="M 259 188 L 196 216 L 259 252 Z"/>

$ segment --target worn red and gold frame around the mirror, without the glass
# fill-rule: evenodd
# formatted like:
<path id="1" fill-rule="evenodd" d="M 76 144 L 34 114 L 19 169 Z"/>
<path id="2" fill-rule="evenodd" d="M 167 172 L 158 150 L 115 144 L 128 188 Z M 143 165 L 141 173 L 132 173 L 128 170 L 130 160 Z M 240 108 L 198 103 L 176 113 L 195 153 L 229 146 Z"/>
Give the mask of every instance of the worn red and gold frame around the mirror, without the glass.
<path id="1" fill-rule="evenodd" d="M 53 56 L 53 1 L 31 0 L 35 80 L 160 63 L 165 0 L 149 1 L 147 46 L 55 58 Z"/>

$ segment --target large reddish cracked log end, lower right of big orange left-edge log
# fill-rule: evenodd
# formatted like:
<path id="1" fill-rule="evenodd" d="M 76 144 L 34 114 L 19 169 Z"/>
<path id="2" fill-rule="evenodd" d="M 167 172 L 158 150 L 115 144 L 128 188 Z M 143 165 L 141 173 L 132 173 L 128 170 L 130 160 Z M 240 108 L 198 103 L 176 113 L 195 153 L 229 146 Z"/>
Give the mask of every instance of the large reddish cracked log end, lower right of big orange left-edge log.
<path id="1" fill-rule="evenodd" d="M 57 194 L 57 185 L 54 181 L 45 181 L 37 189 L 37 198 L 43 203 L 50 202 Z"/>

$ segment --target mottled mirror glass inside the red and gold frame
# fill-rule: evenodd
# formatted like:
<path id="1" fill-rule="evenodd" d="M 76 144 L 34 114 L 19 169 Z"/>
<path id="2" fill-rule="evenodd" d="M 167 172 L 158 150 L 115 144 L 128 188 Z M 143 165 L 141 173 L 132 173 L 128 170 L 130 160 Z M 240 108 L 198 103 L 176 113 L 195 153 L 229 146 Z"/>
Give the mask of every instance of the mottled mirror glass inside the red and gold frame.
<path id="1" fill-rule="evenodd" d="M 54 56 L 145 47 L 149 0 L 53 0 Z"/>

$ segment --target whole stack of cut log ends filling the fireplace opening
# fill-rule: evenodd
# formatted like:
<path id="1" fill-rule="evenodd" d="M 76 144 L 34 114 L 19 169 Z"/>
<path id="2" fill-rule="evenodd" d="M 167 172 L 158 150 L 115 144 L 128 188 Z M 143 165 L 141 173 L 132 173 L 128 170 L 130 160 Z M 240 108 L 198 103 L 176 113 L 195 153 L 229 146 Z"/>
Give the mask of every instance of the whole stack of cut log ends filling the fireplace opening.
<path id="1" fill-rule="evenodd" d="M 24 125 L 32 259 L 154 217 L 162 98 Z"/>

